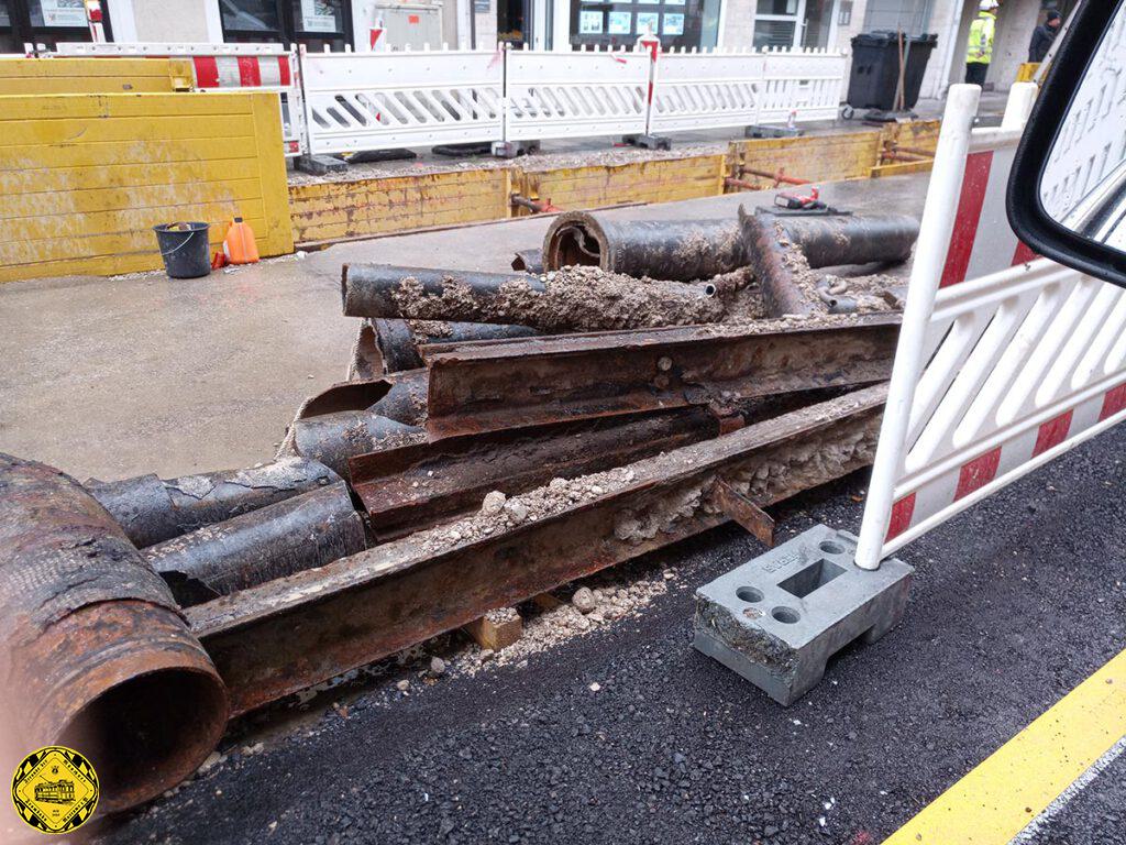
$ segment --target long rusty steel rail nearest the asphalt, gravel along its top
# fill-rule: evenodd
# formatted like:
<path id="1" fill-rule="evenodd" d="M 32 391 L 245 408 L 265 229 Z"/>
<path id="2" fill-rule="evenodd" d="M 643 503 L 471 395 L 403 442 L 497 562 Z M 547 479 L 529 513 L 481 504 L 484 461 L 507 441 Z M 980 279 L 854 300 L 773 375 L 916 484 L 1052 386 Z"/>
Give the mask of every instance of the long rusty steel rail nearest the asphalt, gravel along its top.
<path id="1" fill-rule="evenodd" d="M 763 507 L 867 465 L 885 397 L 875 385 L 643 460 L 624 486 L 494 535 L 435 552 L 425 541 L 445 530 L 412 534 L 186 615 L 245 713 L 720 525 L 718 481 Z"/>

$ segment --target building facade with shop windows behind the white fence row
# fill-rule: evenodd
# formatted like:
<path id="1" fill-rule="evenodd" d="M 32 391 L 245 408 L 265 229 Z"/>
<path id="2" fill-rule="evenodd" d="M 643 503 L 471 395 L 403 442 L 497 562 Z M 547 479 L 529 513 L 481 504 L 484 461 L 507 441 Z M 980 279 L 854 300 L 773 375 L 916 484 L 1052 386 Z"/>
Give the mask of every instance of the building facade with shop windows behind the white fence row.
<path id="1" fill-rule="evenodd" d="M 25 43 L 87 41 L 84 0 L 0 0 L 0 52 Z M 986 83 L 1006 90 L 1046 9 L 1075 0 L 1003 0 Z M 978 0 L 101 0 L 116 42 L 276 42 L 310 50 L 401 50 L 498 44 L 536 50 L 624 46 L 824 47 L 848 52 L 859 33 L 935 33 L 923 97 L 965 75 Z"/>

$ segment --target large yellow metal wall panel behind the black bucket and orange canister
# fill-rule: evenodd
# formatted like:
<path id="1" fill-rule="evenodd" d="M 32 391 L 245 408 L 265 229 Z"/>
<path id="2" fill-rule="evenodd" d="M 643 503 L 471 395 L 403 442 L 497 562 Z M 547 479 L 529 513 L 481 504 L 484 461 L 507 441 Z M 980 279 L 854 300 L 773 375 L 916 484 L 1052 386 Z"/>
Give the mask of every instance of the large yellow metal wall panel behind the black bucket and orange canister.
<path id="1" fill-rule="evenodd" d="M 111 60 L 118 61 L 118 60 Z M 146 60 L 148 61 L 148 60 Z M 152 226 L 243 216 L 293 250 L 277 95 L 0 97 L 0 282 L 161 266 Z"/>

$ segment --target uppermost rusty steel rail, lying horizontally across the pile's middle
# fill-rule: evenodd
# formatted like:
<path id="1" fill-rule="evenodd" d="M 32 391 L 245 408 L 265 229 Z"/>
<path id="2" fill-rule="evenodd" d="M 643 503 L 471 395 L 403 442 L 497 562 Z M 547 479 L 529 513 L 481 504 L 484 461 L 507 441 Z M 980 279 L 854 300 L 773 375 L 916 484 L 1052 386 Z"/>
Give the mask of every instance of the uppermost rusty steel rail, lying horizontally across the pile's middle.
<path id="1" fill-rule="evenodd" d="M 431 439 L 888 377 L 897 314 L 494 340 L 422 350 Z"/>

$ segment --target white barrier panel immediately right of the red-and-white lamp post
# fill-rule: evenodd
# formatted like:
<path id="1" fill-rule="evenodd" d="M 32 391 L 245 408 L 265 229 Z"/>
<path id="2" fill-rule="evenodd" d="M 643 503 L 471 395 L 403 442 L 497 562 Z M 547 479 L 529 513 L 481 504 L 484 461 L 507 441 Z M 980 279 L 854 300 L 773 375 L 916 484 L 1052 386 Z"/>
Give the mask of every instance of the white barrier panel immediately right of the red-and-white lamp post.
<path id="1" fill-rule="evenodd" d="M 653 65 L 649 133 L 759 123 L 767 54 L 661 53 Z"/>

